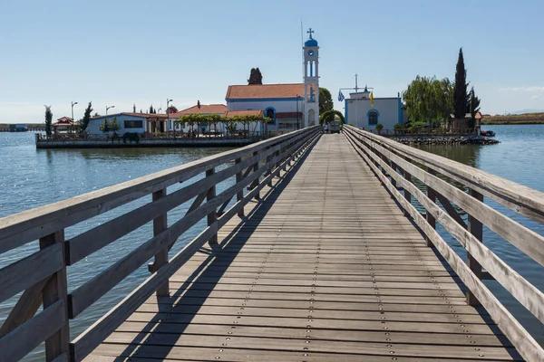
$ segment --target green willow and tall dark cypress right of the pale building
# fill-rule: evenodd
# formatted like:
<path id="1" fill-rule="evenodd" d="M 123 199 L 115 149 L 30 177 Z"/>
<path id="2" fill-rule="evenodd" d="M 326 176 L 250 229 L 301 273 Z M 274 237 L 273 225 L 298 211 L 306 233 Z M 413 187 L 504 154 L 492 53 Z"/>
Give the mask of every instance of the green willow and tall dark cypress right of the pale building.
<path id="1" fill-rule="evenodd" d="M 465 119 L 470 113 L 468 126 L 472 129 L 475 124 L 474 117 L 480 111 L 481 100 L 476 96 L 474 87 L 469 90 L 469 84 L 461 48 L 455 69 L 455 81 L 418 75 L 403 92 L 403 102 L 410 122 L 408 126 L 417 128 L 429 123 L 432 127 L 438 127 L 443 121 L 449 125 L 451 115 L 455 119 Z"/>

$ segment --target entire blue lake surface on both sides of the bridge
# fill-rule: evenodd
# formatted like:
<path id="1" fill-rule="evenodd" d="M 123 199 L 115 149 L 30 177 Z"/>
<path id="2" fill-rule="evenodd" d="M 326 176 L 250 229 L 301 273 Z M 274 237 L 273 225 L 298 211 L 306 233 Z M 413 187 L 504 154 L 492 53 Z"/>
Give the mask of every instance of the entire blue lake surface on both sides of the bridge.
<path id="1" fill-rule="evenodd" d="M 514 182 L 544 192 L 544 125 L 530 126 L 486 126 L 496 132 L 500 140 L 498 145 L 489 146 L 451 146 L 425 147 L 432 153 L 452 158 L 463 164 L 477 167 L 497 176 L 508 178 Z M 105 186 L 128 181 L 133 178 L 149 175 L 169 167 L 176 167 L 189 161 L 206 157 L 227 148 L 124 148 L 124 149 L 54 149 L 36 150 L 33 133 L 0 133 L 0 217 L 19 213 L 40 205 L 47 205 L 75 195 L 100 189 Z M 221 185 L 221 188 L 228 186 Z M 176 189 L 180 186 L 173 186 Z M 116 215 L 131 210 L 138 205 L 149 202 L 150 197 L 123 205 L 112 212 L 92 218 L 91 220 L 68 228 L 66 237 L 81 233 L 97 224 L 102 224 Z M 527 225 L 537 233 L 544 234 L 544 228 L 530 220 L 515 214 L 509 209 L 492 203 L 486 203 L 500 210 L 501 213 Z M 181 217 L 187 205 L 180 206 L 169 213 L 169 224 L 176 217 Z M 172 252 L 179 251 L 189 242 L 203 224 L 196 225 L 185 233 Z M 461 245 L 452 237 L 437 228 L 444 239 L 454 246 L 461 256 L 465 256 Z M 142 238 L 142 234 L 147 235 Z M 119 260 L 127 252 L 151 237 L 151 225 L 146 225 L 136 232 L 130 233 L 121 240 L 112 243 L 100 252 L 68 268 L 70 291 L 88 281 L 112 262 Z M 490 230 L 484 230 L 484 243 L 501 259 L 508 262 L 533 285 L 544 290 L 544 275 L 538 263 L 522 255 L 510 243 L 505 242 Z M 29 243 L 13 252 L 0 255 L 0 268 L 22 256 L 35 252 L 37 243 Z M 71 321 L 71 333 L 78 335 L 88 328 L 93 321 L 100 318 L 106 310 L 112 308 L 127 292 L 141 283 L 149 272 L 144 265 L 129 278 L 97 301 L 91 308 Z M 513 300 L 495 281 L 485 281 L 500 300 L 529 329 L 540 344 L 544 345 L 544 328 L 537 319 L 529 315 L 518 302 Z M 0 322 L 13 308 L 15 299 L 0 304 Z M 25 360 L 43 360 L 43 352 L 38 348 Z"/>

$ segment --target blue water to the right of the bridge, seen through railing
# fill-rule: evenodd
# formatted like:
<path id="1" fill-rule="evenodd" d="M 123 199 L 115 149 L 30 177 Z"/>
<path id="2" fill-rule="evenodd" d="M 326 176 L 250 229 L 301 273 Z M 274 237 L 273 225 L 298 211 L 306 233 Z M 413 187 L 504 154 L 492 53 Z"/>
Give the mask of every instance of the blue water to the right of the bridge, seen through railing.
<path id="1" fill-rule="evenodd" d="M 544 192 L 544 125 L 483 126 L 482 129 L 495 131 L 497 135 L 495 138 L 500 140 L 500 144 L 422 147 L 422 149 Z M 544 234 L 543 225 L 511 211 L 487 197 L 485 203 L 536 233 Z M 464 219 L 466 220 L 466 215 Z M 438 227 L 438 224 L 437 230 L 442 234 L 444 240 L 447 240 L 458 254 L 465 258 L 466 254 L 461 244 Z M 544 291 L 544 267 L 523 255 L 518 249 L 485 226 L 483 242 L 540 291 Z M 485 283 L 539 341 L 540 345 L 544 346 L 544 326 L 542 323 L 514 300 L 508 291 L 500 287 L 497 281 L 485 281 Z"/>

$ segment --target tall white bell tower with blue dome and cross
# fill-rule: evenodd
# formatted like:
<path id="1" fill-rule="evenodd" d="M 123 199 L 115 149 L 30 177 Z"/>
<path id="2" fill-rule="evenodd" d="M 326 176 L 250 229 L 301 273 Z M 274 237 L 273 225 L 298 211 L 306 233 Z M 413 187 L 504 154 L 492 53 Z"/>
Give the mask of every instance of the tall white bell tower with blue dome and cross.
<path id="1" fill-rule="evenodd" d="M 310 39 L 304 43 L 304 101 L 306 126 L 319 123 L 319 45 L 310 28 Z"/>

